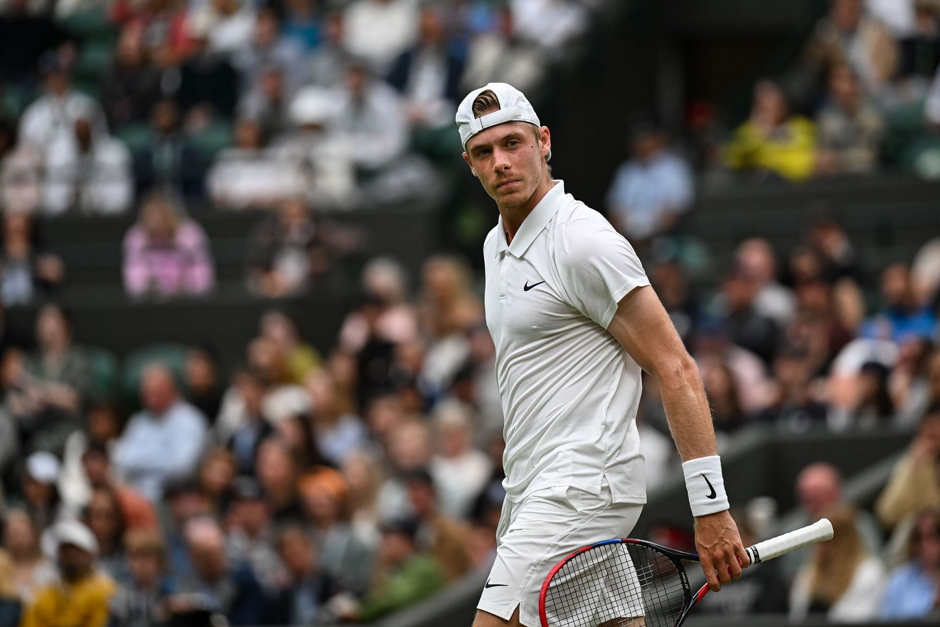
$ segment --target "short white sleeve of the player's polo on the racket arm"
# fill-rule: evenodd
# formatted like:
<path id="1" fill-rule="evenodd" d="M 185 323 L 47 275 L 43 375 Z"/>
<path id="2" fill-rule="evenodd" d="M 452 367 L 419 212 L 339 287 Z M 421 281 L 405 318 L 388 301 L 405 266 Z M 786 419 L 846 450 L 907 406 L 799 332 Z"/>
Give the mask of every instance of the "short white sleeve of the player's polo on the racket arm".
<path id="1" fill-rule="evenodd" d="M 593 210 L 556 229 L 556 269 L 572 306 L 607 328 L 624 296 L 650 285 L 634 247 Z"/>

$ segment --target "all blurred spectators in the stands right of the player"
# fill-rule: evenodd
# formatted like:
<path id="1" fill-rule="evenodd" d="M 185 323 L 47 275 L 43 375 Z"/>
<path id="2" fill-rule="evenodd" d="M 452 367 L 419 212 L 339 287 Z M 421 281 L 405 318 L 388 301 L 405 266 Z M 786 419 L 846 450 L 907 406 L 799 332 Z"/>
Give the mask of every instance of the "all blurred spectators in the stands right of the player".
<path id="1" fill-rule="evenodd" d="M 940 616 L 940 239 L 870 275 L 846 229 L 820 215 L 788 249 L 773 237 L 738 243 L 715 280 L 682 225 L 697 187 L 870 175 L 888 164 L 933 176 L 917 149 L 936 144 L 938 63 L 940 4 L 831 0 L 795 66 L 754 86 L 739 126 L 723 129 L 703 102 L 689 107 L 684 143 L 649 119 L 633 124 L 605 209 L 697 361 L 719 450 L 748 426 L 912 434 L 870 510 L 850 505 L 838 470 L 817 463 L 797 479 L 791 525 L 772 523 L 765 498 L 735 512 L 745 545 L 823 517 L 835 540 L 747 573 L 708 595 L 706 611 Z M 678 459 L 650 377 L 638 421 L 655 490 Z M 654 534 L 695 551 L 689 530 Z"/>

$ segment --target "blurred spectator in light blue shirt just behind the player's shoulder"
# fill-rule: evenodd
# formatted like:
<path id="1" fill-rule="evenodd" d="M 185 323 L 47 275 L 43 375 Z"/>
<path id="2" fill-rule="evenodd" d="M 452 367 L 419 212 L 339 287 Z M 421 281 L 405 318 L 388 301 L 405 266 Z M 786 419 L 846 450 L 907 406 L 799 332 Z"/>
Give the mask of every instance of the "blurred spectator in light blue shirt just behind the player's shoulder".
<path id="1" fill-rule="evenodd" d="M 692 170 L 668 148 L 666 133 L 637 125 L 630 139 L 632 157 L 620 165 L 607 191 L 608 217 L 632 242 L 668 231 L 692 204 Z"/>

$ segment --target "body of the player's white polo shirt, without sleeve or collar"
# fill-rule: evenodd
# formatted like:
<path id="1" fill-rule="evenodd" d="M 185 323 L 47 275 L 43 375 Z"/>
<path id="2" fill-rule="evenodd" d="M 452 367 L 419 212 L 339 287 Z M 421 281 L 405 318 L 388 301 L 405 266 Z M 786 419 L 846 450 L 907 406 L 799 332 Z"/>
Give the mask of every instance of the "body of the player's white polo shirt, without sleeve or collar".
<path id="1" fill-rule="evenodd" d="M 561 481 L 599 489 L 605 467 L 626 453 L 633 415 L 622 415 L 619 400 L 639 385 L 617 340 L 570 302 L 554 227 L 520 257 L 492 241 L 484 251 L 510 495 Z"/>

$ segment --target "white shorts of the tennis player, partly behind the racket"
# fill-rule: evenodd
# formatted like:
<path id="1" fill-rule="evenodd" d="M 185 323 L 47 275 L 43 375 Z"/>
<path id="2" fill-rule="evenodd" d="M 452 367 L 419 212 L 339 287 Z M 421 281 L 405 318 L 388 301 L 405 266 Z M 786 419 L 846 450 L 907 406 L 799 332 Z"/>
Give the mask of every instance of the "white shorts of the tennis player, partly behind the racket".
<path id="1" fill-rule="evenodd" d="M 588 544 L 628 537 L 642 510 L 642 505 L 614 503 L 607 486 L 601 494 L 560 486 L 519 503 L 507 498 L 496 530 L 496 561 L 478 609 L 509 620 L 518 606 L 520 623 L 540 627 L 539 592 L 552 567 Z"/>

